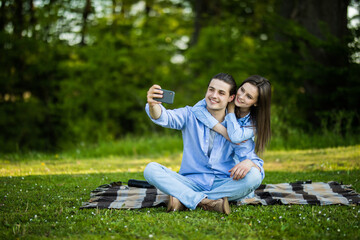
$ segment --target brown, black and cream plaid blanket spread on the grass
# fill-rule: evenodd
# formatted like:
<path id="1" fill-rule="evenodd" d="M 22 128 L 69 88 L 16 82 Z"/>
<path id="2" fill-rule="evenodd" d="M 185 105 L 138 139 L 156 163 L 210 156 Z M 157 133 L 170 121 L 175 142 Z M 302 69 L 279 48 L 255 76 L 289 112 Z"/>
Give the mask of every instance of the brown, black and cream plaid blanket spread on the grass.
<path id="1" fill-rule="evenodd" d="M 101 185 L 90 194 L 89 202 L 81 208 L 137 209 L 166 206 L 169 196 L 156 188 L 129 187 L 122 182 Z M 353 205 L 360 203 L 360 195 L 350 185 L 337 182 L 295 182 L 260 185 L 255 197 L 233 202 L 244 204 L 316 204 Z"/>

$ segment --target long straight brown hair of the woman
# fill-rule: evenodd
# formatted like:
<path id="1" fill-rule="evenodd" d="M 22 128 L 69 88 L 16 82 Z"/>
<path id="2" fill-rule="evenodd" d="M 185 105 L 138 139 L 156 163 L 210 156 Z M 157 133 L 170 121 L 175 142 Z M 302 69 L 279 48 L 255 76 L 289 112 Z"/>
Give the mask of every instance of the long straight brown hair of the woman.
<path id="1" fill-rule="evenodd" d="M 270 129 L 270 105 L 271 105 L 271 84 L 266 78 L 253 75 L 248 77 L 241 85 L 250 83 L 258 88 L 259 96 L 257 103 L 250 108 L 250 119 L 255 127 L 254 135 L 255 151 L 256 153 L 262 153 L 265 150 L 265 146 L 270 141 L 271 129 Z M 255 106 L 256 105 L 256 106 Z M 240 108 L 236 107 L 236 117 L 240 118 Z"/>

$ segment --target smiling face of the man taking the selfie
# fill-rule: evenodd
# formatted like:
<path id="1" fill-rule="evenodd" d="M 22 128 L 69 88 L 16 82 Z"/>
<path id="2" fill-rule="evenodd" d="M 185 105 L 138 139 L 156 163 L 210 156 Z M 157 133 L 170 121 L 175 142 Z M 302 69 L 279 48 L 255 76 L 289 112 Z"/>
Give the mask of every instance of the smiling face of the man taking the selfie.
<path id="1" fill-rule="evenodd" d="M 230 85 L 224 81 L 218 79 L 211 80 L 205 94 L 207 109 L 210 111 L 224 110 L 235 96 L 230 96 L 230 88 Z"/>

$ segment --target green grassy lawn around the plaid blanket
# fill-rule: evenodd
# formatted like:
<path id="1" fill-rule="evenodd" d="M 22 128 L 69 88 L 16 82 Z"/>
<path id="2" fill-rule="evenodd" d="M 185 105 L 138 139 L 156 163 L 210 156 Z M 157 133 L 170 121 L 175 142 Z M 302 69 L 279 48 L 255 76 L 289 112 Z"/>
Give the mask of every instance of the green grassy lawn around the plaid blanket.
<path id="1" fill-rule="evenodd" d="M 101 155 L 101 154 L 100 154 Z M 180 153 L 157 156 L 0 157 L 0 239 L 359 239 L 360 206 L 232 206 L 224 216 L 165 208 L 79 207 L 97 186 L 144 179 L 147 163 L 178 170 Z M 85 156 L 85 157 L 84 157 Z M 264 183 L 338 181 L 360 192 L 360 146 L 268 151 Z"/>

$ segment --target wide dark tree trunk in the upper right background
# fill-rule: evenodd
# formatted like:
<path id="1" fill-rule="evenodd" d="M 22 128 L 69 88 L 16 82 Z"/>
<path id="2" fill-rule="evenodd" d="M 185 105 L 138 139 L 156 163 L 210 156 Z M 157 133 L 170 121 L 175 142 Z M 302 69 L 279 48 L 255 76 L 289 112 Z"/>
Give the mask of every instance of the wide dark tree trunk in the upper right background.
<path id="1" fill-rule="evenodd" d="M 307 47 L 306 53 L 299 52 L 307 63 L 304 70 L 308 74 L 303 80 L 306 99 L 310 102 L 307 112 L 311 115 L 316 110 L 326 110 L 327 106 L 330 108 L 332 104 L 331 107 L 336 108 L 340 99 L 337 99 L 339 96 L 335 93 L 337 87 L 345 86 L 347 75 L 343 69 L 349 67 L 346 50 L 349 0 L 281 0 L 280 3 L 280 14 L 283 17 L 299 23 L 322 42 L 319 45 L 306 38 L 295 40 L 303 41 Z M 331 40 L 334 37 L 337 41 Z M 339 79 L 342 79 L 341 83 Z M 337 107 L 341 108 L 339 105 Z"/>

